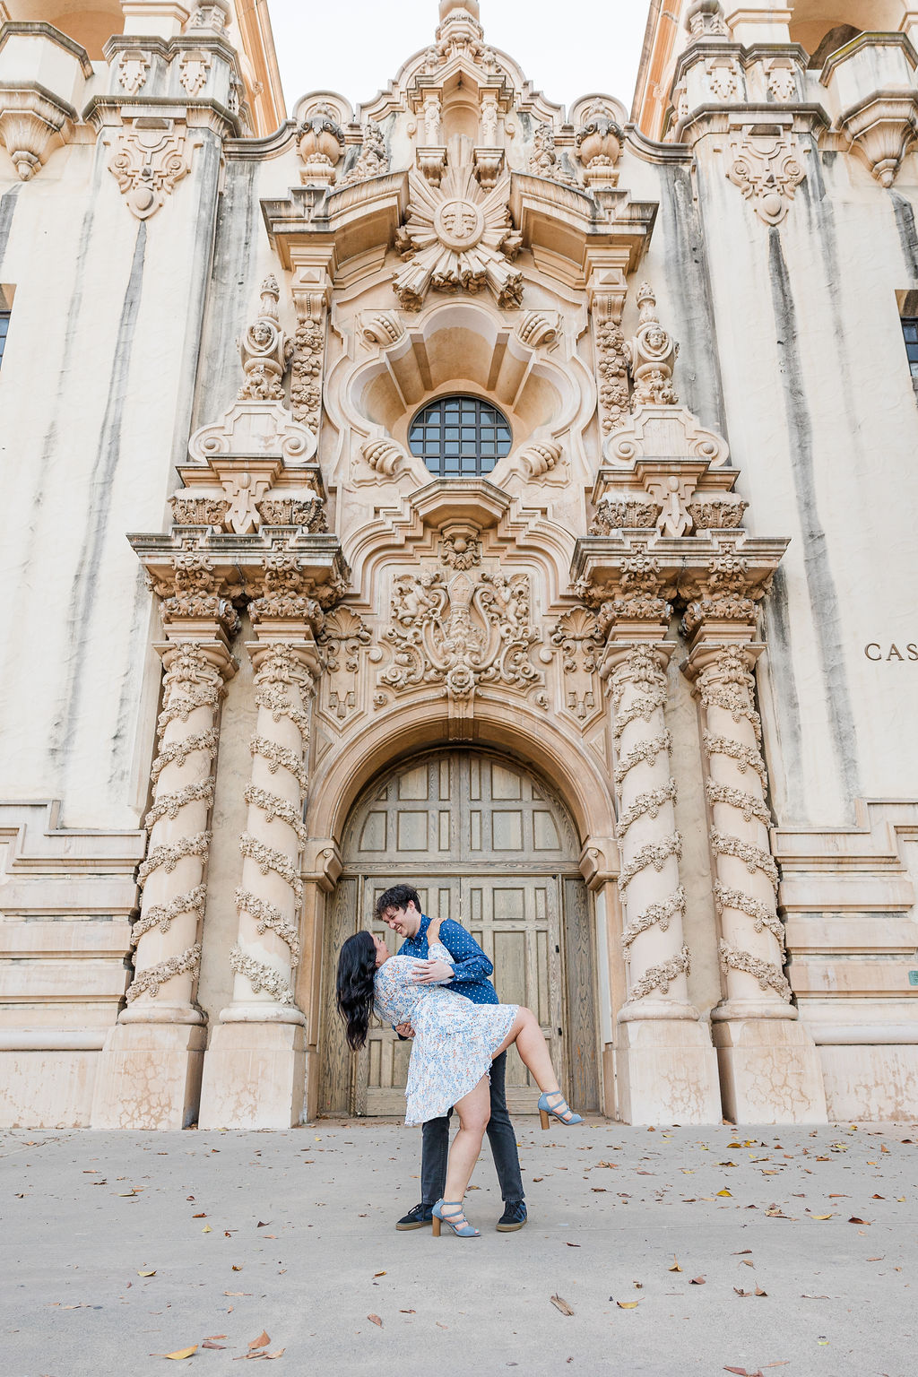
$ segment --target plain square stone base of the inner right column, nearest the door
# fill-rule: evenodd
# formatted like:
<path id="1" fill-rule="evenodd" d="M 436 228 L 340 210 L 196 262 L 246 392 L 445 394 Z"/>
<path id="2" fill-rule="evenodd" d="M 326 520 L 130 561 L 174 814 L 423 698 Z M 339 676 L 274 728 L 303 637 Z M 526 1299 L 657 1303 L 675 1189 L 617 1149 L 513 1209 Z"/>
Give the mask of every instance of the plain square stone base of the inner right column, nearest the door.
<path id="1" fill-rule="evenodd" d="M 647 1019 L 619 1023 L 615 1045 L 618 1115 L 625 1124 L 720 1124 L 717 1053 L 703 1023 Z"/>

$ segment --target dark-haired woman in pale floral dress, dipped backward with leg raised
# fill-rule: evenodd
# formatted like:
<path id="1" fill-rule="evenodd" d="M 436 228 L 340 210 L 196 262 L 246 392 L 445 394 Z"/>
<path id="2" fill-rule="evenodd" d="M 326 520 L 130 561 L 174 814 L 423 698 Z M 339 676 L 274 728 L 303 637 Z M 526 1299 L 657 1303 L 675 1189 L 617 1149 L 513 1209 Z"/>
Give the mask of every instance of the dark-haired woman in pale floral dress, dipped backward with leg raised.
<path id="1" fill-rule="evenodd" d="M 453 965 L 438 942 L 440 924 L 432 921 L 428 952 L 432 960 Z M 434 1206 L 434 1232 L 449 1224 L 460 1238 L 476 1238 L 462 1212 L 462 1199 L 482 1150 L 490 1115 L 489 1074 L 495 1056 L 516 1042 L 523 1063 L 542 1095 L 538 1110 L 542 1128 L 549 1115 L 562 1124 L 579 1124 L 562 1095 L 538 1019 L 519 1004 L 473 1004 L 438 985 L 418 985 L 414 957 L 392 956 L 381 938 L 358 932 L 341 947 L 337 972 L 337 1007 L 352 1048 L 363 1047 L 370 1013 L 392 1026 L 414 1029 L 407 1071 L 406 1124 L 425 1124 L 454 1106 L 460 1131 L 453 1139 L 446 1169 L 445 1198 Z"/>

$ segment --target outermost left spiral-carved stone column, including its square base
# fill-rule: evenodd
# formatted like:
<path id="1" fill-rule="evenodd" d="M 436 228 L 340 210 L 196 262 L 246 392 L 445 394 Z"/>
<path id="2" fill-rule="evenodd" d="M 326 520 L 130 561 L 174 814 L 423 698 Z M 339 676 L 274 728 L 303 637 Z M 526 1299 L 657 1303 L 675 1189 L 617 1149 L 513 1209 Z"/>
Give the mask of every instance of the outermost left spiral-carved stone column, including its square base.
<path id="1" fill-rule="evenodd" d="M 184 1128 L 194 1118 L 205 1029 L 195 1005 L 219 708 L 235 672 L 226 640 L 169 640 L 153 761 L 150 844 L 139 870 L 135 974 L 106 1044 L 96 1128 Z"/>

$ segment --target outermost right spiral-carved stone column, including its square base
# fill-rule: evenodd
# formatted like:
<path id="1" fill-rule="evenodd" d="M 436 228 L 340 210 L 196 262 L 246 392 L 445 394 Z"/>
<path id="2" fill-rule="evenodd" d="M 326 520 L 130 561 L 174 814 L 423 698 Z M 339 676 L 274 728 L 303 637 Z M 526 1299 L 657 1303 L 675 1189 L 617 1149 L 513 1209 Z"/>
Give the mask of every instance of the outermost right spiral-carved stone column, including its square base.
<path id="1" fill-rule="evenodd" d="M 720 964 L 727 998 L 712 1012 L 724 1113 L 751 1122 L 826 1118 L 819 1056 L 790 1002 L 778 916 L 778 866 L 751 669 L 761 644 L 702 643 L 687 673 L 702 712 Z"/>

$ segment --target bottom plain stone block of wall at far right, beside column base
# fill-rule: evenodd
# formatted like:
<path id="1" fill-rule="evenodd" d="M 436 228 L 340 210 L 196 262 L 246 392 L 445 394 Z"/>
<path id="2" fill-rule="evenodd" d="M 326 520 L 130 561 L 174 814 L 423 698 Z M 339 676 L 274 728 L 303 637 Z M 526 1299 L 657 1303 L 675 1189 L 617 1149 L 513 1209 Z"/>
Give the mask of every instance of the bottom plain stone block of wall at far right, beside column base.
<path id="1" fill-rule="evenodd" d="M 831 1120 L 918 1117 L 918 1047 L 820 1047 Z"/>

